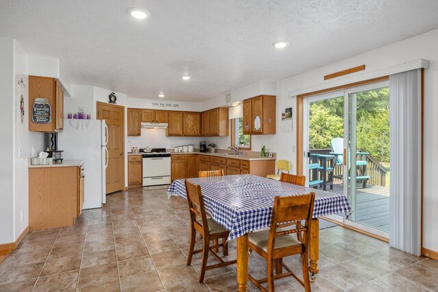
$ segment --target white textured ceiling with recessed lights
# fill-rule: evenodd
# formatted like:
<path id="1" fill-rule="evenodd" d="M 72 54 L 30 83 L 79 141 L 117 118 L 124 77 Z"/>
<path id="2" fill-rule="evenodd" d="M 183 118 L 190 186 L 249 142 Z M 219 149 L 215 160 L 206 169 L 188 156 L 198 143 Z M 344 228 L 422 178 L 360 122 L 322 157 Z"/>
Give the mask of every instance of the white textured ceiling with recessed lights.
<path id="1" fill-rule="evenodd" d="M 138 5 L 146 21 L 127 14 Z M 205 101 L 437 29 L 437 15 L 437 0 L 1 0 L 0 36 L 60 58 L 69 83 Z"/>

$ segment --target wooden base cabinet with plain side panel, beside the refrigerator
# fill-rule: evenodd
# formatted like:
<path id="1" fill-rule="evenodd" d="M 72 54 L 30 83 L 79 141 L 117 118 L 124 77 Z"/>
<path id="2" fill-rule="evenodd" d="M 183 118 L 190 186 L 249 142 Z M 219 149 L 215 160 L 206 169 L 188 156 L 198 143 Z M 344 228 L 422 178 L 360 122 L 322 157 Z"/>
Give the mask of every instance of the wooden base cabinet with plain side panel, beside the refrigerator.
<path id="1" fill-rule="evenodd" d="M 80 166 L 29 168 L 29 230 L 73 226 L 82 206 Z"/>

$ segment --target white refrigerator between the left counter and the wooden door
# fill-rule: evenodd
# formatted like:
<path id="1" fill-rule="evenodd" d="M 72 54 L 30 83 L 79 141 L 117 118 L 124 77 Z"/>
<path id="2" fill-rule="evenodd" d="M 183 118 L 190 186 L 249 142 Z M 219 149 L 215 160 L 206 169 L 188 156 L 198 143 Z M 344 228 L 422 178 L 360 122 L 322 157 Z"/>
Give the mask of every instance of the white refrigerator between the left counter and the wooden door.
<path id="1" fill-rule="evenodd" d="M 105 120 L 67 120 L 58 134 L 62 158 L 83 160 L 83 209 L 101 208 L 106 202 L 105 169 L 108 165 L 108 128 Z"/>

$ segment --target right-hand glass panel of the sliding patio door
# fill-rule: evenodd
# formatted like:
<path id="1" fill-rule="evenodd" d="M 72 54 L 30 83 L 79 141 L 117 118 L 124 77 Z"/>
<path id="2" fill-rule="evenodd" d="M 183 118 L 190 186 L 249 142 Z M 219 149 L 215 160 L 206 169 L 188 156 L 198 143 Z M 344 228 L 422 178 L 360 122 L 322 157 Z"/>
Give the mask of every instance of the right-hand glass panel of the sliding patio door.
<path id="1" fill-rule="evenodd" d="M 350 220 L 389 233 L 389 88 L 368 85 L 346 95 Z"/>

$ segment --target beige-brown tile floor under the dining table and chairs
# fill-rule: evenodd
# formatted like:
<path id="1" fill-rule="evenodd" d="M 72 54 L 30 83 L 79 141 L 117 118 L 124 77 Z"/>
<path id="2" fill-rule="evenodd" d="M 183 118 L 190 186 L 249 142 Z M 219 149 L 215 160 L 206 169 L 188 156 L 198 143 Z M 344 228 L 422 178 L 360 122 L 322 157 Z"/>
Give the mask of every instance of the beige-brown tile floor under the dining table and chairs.
<path id="1" fill-rule="evenodd" d="M 0 291 L 235 291 L 235 265 L 207 271 L 201 285 L 201 255 L 185 265 L 188 219 L 185 201 L 168 199 L 166 190 L 113 194 L 103 209 L 84 211 L 74 227 L 29 233 L 0 263 Z M 235 258 L 233 242 L 229 257 Z M 298 257 L 285 262 L 300 271 Z M 266 275 L 255 254 L 250 274 Z M 320 274 L 312 291 L 438 291 L 437 278 L 438 261 L 340 226 L 320 231 Z M 304 289 L 287 278 L 276 282 L 276 291 Z"/>

